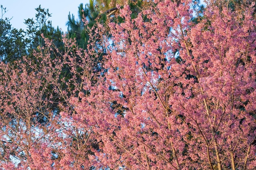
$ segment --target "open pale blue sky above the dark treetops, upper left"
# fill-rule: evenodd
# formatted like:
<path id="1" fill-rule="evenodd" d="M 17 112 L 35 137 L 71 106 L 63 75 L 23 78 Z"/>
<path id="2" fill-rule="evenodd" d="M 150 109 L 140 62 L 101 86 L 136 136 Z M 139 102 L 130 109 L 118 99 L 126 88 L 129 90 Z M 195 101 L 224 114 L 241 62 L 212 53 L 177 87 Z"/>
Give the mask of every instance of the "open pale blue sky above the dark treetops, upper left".
<path id="1" fill-rule="evenodd" d="M 26 25 L 23 23 L 24 19 L 34 19 L 36 15 L 35 8 L 41 4 L 41 8 L 49 9 L 49 13 L 52 13 L 52 17 L 48 19 L 52 20 L 52 26 L 54 28 L 59 26 L 66 32 L 67 26 L 65 24 L 68 13 L 73 13 L 77 19 L 79 4 L 88 2 L 89 0 L 0 0 L 0 5 L 8 10 L 3 18 L 12 18 L 10 21 L 12 27 L 26 29 Z M 1 16 L 0 13 L 0 18 Z"/>

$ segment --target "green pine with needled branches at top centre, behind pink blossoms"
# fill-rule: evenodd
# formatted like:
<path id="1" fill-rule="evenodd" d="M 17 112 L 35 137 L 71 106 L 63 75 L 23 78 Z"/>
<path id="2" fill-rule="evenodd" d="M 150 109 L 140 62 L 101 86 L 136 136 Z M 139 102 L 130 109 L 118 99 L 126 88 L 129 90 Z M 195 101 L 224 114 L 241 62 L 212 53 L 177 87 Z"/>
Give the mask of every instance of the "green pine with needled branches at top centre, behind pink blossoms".
<path id="1" fill-rule="evenodd" d="M 89 4 L 83 5 L 81 3 L 78 7 L 78 20 L 75 20 L 73 14 L 69 13 L 68 15 L 66 25 L 68 26 L 69 38 L 76 38 L 79 47 L 87 48 L 90 29 L 93 26 L 96 27 L 96 23 L 107 26 L 109 22 L 122 22 L 122 18 L 118 16 L 117 4 L 123 6 L 125 3 L 129 4 L 132 11 L 131 18 L 133 19 L 137 17 L 142 8 L 148 6 L 149 2 L 144 0 L 126 2 L 121 0 L 90 0 Z"/>

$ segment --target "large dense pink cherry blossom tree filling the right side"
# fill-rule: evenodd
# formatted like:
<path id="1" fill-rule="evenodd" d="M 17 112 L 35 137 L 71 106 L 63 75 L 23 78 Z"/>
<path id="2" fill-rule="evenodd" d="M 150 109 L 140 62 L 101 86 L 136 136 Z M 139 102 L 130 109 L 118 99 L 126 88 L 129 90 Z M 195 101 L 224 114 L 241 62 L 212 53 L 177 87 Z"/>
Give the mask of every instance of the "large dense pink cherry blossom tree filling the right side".
<path id="1" fill-rule="evenodd" d="M 134 20 L 128 6 L 120 11 L 104 65 L 114 88 L 88 115 L 104 166 L 254 168 L 254 5 L 237 15 L 209 3 L 196 25 L 189 1 L 158 2 Z"/>

